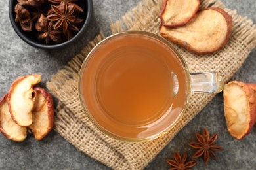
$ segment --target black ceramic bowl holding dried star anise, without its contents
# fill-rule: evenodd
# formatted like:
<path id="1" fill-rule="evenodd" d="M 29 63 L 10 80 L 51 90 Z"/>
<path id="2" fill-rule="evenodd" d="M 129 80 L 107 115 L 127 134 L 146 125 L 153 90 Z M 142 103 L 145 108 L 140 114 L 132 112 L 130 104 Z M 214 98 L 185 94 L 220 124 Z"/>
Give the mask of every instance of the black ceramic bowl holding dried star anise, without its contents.
<path id="1" fill-rule="evenodd" d="M 45 0 L 45 1 L 47 1 L 47 0 Z M 83 9 L 83 12 L 81 12 L 81 14 L 79 16 L 79 18 L 84 19 L 83 25 L 81 25 L 80 30 L 75 34 L 75 36 L 72 39 L 70 39 L 68 41 L 61 42 L 59 44 L 45 44 L 44 41 L 37 39 L 38 33 L 35 29 L 32 32 L 25 32 L 22 30 L 22 27 L 20 27 L 20 24 L 18 22 L 15 22 L 16 13 L 14 12 L 14 7 L 17 4 L 17 0 L 9 1 L 9 17 L 11 20 L 12 27 L 14 28 L 14 30 L 16 31 L 18 36 L 23 41 L 30 44 L 31 46 L 34 46 L 36 48 L 43 48 L 46 50 L 54 50 L 57 48 L 64 48 L 64 47 L 70 46 L 71 44 L 74 44 L 74 42 L 77 41 L 78 39 L 81 39 L 81 37 L 86 32 L 86 29 L 89 25 L 89 22 L 91 20 L 91 16 L 93 13 L 92 0 L 79 0 L 76 3 Z"/>

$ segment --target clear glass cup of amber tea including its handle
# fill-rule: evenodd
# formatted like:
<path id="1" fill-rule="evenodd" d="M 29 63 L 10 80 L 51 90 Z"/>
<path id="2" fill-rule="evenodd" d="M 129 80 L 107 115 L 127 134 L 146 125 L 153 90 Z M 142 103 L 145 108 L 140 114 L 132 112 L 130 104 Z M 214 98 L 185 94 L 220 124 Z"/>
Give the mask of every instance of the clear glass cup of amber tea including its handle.
<path id="1" fill-rule="evenodd" d="M 192 93 L 223 90 L 215 72 L 190 73 L 165 39 L 126 31 L 98 43 L 81 66 L 79 99 L 89 120 L 122 141 L 149 141 L 181 120 Z"/>

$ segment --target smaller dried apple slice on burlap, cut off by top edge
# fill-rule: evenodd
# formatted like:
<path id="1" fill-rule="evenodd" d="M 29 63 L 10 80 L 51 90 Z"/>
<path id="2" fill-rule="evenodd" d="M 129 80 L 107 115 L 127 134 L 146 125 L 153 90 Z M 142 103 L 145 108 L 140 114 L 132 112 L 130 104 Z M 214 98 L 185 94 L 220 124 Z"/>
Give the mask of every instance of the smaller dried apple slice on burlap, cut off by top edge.
<path id="1" fill-rule="evenodd" d="M 161 24 L 165 27 L 180 27 L 187 24 L 200 7 L 199 0 L 165 0 L 161 11 Z"/>

